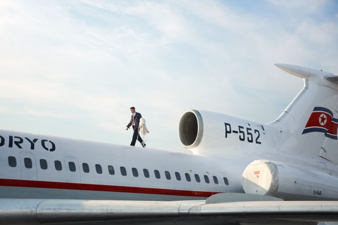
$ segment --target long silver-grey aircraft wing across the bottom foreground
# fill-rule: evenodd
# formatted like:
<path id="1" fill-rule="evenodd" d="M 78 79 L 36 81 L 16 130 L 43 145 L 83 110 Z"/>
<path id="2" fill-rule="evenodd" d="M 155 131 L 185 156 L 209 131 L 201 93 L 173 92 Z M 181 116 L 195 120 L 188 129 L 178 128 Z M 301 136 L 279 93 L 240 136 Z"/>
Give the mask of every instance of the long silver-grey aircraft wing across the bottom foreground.
<path id="1" fill-rule="evenodd" d="M 265 196 L 264 196 L 265 197 Z M 0 199 L 0 224 L 261 224 L 338 221 L 338 201 Z M 219 200 L 221 199 L 221 200 Z"/>

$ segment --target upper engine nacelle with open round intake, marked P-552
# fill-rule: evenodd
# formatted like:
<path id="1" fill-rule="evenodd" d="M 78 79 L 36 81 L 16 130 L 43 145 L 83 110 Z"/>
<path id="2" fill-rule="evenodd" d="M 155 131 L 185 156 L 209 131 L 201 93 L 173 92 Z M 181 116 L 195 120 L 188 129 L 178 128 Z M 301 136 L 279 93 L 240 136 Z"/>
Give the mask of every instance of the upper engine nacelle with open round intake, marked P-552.
<path id="1" fill-rule="evenodd" d="M 266 147 L 274 139 L 267 137 L 267 130 L 261 124 L 199 110 L 190 110 L 181 116 L 178 133 L 185 148 L 198 146 L 199 151 L 222 149 L 222 153 L 229 154 L 252 152 L 263 145 Z"/>

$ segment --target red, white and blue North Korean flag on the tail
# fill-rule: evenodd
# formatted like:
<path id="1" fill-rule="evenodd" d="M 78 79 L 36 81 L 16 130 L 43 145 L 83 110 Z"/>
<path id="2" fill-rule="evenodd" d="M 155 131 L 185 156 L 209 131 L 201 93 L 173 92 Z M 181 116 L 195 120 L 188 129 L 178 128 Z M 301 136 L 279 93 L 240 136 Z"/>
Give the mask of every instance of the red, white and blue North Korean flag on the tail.
<path id="1" fill-rule="evenodd" d="M 324 107 L 314 107 L 303 133 L 322 132 L 328 138 L 337 138 L 338 119 L 333 118 L 333 113 Z"/>

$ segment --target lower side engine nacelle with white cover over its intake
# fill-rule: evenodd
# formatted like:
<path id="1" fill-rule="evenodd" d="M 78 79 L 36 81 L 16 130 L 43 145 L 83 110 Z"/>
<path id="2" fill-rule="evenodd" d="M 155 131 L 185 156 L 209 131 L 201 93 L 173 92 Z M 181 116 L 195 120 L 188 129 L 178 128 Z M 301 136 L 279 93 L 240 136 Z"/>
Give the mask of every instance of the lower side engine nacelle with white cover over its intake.
<path id="1" fill-rule="evenodd" d="M 337 177 L 276 161 L 257 160 L 249 164 L 242 175 L 242 186 L 245 193 L 285 200 L 338 199 Z"/>

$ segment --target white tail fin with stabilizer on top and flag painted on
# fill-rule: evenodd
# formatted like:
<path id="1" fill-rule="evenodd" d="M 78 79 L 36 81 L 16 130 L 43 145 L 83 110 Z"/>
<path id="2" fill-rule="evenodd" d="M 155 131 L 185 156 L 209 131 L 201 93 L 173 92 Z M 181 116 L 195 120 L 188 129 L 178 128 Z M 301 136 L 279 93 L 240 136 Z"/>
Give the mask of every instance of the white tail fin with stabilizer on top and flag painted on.
<path id="1" fill-rule="evenodd" d="M 272 123 L 289 131 L 282 150 L 316 155 L 338 164 L 338 75 L 290 64 L 275 65 L 304 80 L 303 89 Z"/>

